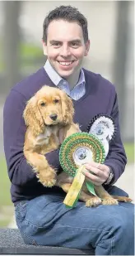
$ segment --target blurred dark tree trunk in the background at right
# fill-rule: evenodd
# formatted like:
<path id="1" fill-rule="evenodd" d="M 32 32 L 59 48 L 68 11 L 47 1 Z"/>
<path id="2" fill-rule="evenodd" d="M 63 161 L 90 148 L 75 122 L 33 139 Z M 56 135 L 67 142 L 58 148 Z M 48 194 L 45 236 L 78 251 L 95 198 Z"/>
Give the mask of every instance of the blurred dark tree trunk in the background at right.
<path id="1" fill-rule="evenodd" d="M 128 33 L 129 30 L 129 7 L 130 1 L 116 2 L 117 21 L 115 35 L 115 56 L 114 56 L 114 75 L 113 82 L 117 85 L 117 93 L 119 97 L 119 120 L 121 125 L 122 137 L 124 133 L 124 120 L 126 112 L 125 99 L 126 92 L 126 67 L 128 56 Z M 124 139 L 124 138 L 123 138 Z"/>

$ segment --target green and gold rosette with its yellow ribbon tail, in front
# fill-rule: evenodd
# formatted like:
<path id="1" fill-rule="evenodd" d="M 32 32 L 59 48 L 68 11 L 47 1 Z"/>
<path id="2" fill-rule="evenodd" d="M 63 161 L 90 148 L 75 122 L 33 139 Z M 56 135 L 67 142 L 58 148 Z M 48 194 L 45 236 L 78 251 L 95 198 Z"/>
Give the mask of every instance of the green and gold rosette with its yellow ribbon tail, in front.
<path id="1" fill-rule="evenodd" d="M 59 162 L 69 176 L 73 176 L 72 186 L 63 203 L 74 206 L 85 181 L 83 165 L 90 161 L 103 163 L 105 148 L 98 138 L 89 133 L 74 133 L 63 141 L 59 151 Z M 86 182 L 88 191 L 95 195 L 94 185 Z M 96 195 L 95 195 L 96 196 Z"/>

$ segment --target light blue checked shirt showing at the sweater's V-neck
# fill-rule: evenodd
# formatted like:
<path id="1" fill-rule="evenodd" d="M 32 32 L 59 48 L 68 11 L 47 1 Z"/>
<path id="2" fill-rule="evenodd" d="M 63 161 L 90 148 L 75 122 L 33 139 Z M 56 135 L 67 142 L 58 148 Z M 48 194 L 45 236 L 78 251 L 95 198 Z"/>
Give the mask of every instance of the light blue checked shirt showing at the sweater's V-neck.
<path id="1" fill-rule="evenodd" d="M 50 65 L 49 60 L 45 62 L 44 70 L 49 75 L 49 78 L 52 80 L 54 85 L 58 86 L 60 89 L 63 89 L 72 99 L 81 99 L 81 97 L 86 93 L 86 80 L 82 69 L 77 85 L 71 91 L 67 80 L 63 80 L 63 78 L 58 75 L 58 73 Z"/>

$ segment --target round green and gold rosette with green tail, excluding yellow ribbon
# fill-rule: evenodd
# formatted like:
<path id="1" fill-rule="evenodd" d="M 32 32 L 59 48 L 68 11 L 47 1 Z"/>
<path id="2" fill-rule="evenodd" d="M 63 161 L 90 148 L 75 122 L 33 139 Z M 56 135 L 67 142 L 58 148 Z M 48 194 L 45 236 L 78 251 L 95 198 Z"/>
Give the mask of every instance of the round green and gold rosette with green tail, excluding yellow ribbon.
<path id="1" fill-rule="evenodd" d="M 95 135 L 74 133 L 63 141 L 59 151 L 59 162 L 69 176 L 75 177 L 78 168 L 90 161 L 105 161 L 105 148 Z M 95 195 L 94 185 L 86 182 L 86 186 L 88 191 Z"/>

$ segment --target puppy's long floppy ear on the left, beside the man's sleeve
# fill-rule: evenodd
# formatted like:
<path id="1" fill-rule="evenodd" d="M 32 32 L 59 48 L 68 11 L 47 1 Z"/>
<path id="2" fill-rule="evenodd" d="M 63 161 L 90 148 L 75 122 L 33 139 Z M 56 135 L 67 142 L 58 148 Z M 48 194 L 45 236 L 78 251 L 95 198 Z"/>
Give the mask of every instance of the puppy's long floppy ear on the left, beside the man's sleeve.
<path id="1" fill-rule="evenodd" d="M 30 127 L 32 133 L 37 136 L 44 133 L 44 120 L 38 108 L 37 99 L 33 96 L 26 104 L 23 112 L 23 118 L 27 127 Z"/>

